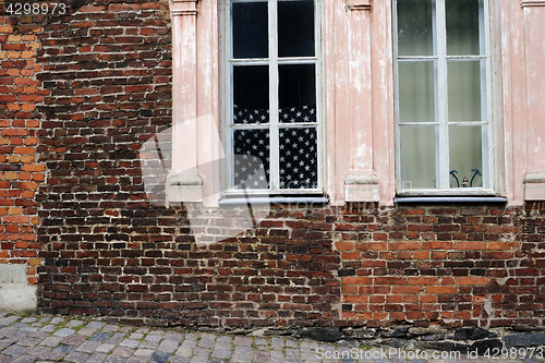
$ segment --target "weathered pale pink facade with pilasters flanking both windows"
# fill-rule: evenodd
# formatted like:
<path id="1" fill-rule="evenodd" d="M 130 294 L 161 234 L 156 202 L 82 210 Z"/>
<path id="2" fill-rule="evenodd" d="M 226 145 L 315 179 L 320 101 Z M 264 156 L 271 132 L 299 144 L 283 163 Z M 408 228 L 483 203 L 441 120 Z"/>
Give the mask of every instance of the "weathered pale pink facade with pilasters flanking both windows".
<path id="1" fill-rule="evenodd" d="M 324 0 L 324 193 L 331 205 L 396 196 L 391 0 Z M 221 197 L 223 1 L 170 0 L 173 37 L 171 202 Z M 510 205 L 545 199 L 545 0 L 489 2 L 494 184 Z M 196 120 L 187 122 L 184 120 Z M 177 128 L 178 125 L 178 128 Z M 178 131 L 177 131 L 178 130 Z M 177 132 L 183 140 L 177 142 Z M 187 137 L 189 135 L 189 137 Z M 199 166 L 195 172 L 184 170 Z"/>

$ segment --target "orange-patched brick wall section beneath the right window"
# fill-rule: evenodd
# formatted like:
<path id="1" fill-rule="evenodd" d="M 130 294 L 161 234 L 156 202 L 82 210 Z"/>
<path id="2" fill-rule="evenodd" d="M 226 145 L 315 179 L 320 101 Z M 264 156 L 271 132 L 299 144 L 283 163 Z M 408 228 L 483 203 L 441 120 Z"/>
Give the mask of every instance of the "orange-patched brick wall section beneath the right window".
<path id="1" fill-rule="evenodd" d="M 341 324 L 542 326 L 544 222 L 538 203 L 354 213 L 336 227 Z"/>

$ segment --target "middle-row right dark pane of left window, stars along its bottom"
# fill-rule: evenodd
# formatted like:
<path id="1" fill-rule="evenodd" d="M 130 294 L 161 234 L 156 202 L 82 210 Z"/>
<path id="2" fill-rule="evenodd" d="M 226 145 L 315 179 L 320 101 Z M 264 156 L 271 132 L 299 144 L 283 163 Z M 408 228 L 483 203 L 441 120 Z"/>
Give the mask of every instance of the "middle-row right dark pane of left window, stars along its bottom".
<path id="1" fill-rule="evenodd" d="M 314 64 L 278 66 L 280 122 L 316 122 L 316 73 Z"/>

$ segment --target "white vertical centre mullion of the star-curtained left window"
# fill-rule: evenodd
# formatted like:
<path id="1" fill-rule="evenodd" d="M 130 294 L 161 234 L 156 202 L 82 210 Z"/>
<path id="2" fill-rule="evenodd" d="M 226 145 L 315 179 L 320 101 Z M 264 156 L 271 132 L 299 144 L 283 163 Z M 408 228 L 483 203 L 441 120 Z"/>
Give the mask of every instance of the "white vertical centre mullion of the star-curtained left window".
<path id="1" fill-rule="evenodd" d="M 270 189 L 278 191 L 279 180 L 279 136 L 278 136 L 278 35 L 277 35 L 277 0 L 270 0 L 269 20 L 269 120 L 270 120 Z"/>

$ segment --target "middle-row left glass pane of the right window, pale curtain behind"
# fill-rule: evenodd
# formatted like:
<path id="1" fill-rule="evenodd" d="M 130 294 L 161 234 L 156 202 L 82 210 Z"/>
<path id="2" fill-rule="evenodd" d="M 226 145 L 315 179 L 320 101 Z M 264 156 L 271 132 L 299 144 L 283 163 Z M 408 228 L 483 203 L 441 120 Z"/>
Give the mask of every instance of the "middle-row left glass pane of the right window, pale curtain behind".
<path id="1" fill-rule="evenodd" d="M 435 121 L 435 62 L 398 62 L 399 121 Z"/>

